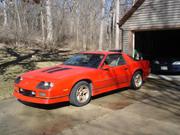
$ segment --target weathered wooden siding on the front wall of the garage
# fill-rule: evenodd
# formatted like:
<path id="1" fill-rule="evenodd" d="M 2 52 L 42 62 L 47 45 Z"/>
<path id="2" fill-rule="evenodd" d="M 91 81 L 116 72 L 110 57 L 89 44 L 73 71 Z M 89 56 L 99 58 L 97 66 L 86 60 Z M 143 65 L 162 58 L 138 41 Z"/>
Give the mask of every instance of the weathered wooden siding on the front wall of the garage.
<path id="1" fill-rule="evenodd" d="M 129 52 L 128 31 L 180 28 L 180 0 L 145 0 L 121 28 L 123 50 Z"/>

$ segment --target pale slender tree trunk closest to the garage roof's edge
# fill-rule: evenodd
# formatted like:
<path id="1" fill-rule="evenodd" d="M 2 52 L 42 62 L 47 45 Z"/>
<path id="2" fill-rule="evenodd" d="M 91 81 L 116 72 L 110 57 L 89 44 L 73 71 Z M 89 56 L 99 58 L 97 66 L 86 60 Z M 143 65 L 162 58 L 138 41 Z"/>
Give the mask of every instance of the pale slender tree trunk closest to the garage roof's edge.
<path id="1" fill-rule="evenodd" d="M 119 45 L 119 0 L 116 1 L 116 41 L 115 41 L 115 49 L 119 49 L 120 45 Z"/>

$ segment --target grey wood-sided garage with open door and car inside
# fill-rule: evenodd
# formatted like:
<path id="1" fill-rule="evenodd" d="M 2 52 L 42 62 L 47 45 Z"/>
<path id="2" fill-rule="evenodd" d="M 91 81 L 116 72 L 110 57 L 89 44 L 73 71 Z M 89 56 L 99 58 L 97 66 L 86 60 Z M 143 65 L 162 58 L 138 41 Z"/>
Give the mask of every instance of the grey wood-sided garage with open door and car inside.
<path id="1" fill-rule="evenodd" d="M 121 48 L 139 52 L 153 71 L 180 72 L 180 1 L 136 0 L 120 19 Z"/>

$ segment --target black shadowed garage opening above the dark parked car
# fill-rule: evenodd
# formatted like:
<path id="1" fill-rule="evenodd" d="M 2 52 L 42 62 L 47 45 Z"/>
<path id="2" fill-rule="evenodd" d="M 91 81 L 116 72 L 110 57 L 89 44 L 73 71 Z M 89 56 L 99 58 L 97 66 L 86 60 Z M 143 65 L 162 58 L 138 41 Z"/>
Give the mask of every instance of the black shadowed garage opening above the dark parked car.
<path id="1" fill-rule="evenodd" d="M 135 49 L 145 59 L 180 58 L 180 29 L 135 32 Z"/>

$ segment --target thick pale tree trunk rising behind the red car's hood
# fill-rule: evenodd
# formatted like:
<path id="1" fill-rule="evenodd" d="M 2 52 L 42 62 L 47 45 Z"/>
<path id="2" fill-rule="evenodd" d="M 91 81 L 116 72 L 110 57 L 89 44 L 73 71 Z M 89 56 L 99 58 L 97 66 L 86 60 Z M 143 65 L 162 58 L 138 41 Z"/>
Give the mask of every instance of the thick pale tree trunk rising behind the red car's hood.
<path id="1" fill-rule="evenodd" d="M 46 0 L 46 15 L 47 15 L 47 42 L 53 41 L 53 23 L 52 23 L 52 13 L 51 13 L 51 2 L 52 0 Z"/>

